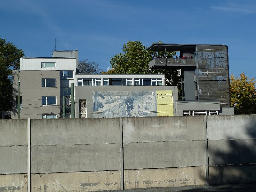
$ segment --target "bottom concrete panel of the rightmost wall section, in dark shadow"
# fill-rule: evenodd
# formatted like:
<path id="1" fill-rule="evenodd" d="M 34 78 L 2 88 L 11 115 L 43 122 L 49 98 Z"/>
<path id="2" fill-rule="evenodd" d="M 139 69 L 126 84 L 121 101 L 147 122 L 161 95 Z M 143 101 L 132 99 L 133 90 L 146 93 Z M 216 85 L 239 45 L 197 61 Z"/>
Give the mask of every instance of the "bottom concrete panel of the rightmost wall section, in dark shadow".
<path id="1" fill-rule="evenodd" d="M 256 164 L 209 167 L 210 184 L 245 183 L 256 181 Z"/>

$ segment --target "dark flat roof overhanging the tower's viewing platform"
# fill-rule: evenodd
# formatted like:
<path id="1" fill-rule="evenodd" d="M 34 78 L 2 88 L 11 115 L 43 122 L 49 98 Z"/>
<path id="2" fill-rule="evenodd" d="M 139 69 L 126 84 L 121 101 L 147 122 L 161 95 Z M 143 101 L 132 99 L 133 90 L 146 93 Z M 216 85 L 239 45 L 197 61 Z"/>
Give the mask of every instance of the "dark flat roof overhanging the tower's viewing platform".
<path id="1" fill-rule="evenodd" d="M 167 44 L 167 43 L 153 43 L 148 47 L 148 51 L 182 51 L 182 50 L 195 50 L 197 45 L 204 46 L 226 46 L 227 45 L 219 45 L 219 44 Z"/>

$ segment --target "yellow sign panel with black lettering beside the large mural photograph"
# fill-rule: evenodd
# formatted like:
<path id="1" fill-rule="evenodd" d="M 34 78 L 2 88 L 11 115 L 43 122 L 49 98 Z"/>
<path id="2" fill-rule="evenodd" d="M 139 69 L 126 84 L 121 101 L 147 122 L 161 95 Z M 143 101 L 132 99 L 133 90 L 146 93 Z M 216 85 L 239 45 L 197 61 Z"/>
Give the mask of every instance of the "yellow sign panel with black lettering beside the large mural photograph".
<path id="1" fill-rule="evenodd" d="M 172 90 L 156 91 L 157 116 L 173 116 Z"/>

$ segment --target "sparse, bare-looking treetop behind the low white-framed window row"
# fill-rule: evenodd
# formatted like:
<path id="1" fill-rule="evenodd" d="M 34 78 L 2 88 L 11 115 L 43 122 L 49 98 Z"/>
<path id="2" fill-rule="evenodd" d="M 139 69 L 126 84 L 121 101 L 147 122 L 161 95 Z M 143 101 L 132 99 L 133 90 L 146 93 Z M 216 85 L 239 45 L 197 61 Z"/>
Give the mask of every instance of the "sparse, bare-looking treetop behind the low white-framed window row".
<path id="1" fill-rule="evenodd" d="M 96 62 L 85 60 L 79 60 L 78 62 L 79 73 L 102 73 L 103 70 L 99 68 L 99 64 Z"/>

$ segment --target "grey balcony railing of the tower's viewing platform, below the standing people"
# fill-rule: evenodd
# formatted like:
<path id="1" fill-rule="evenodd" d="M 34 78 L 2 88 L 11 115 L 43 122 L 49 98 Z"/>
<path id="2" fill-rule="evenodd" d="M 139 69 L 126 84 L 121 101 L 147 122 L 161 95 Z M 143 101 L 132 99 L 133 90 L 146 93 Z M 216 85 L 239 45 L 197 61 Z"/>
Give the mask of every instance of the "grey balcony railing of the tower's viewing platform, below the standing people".
<path id="1" fill-rule="evenodd" d="M 196 66 L 196 59 L 158 58 L 149 62 L 149 68 L 154 66 Z"/>

